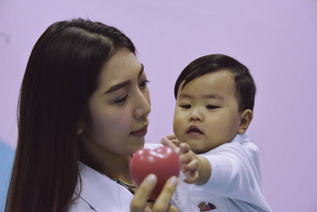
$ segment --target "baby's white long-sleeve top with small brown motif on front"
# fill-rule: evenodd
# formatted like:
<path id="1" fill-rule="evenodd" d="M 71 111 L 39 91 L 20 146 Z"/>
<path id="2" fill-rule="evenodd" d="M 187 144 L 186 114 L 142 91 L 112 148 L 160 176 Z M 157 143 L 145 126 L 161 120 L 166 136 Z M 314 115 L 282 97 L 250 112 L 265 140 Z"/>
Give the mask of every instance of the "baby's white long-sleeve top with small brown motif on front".
<path id="1" fill-rule="evenodd" d="M 263 194 L 258 147 L 247 134 L 201 155 L 212 167 L 210 179 L 186 184 L 181 173 L 173 197 L 180 211 L 272 211 Z"/>

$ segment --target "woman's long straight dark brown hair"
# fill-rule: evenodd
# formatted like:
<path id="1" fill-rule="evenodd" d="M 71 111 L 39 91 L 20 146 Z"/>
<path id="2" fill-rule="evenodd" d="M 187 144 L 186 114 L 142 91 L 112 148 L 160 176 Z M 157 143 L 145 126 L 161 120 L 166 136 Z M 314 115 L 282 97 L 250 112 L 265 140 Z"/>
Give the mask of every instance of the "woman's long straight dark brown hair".
<path id="1" fill-rule="evenodd" d="M 78 122 L 87 118 L 100 70 L 121 48 L 136 52 L 116 28 L 81 18 L 56 22 L 37 40 L 20 88 L 6 212 L 64 211 L 72 201 Z"/>

